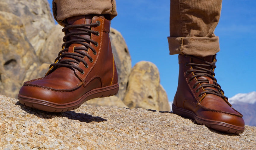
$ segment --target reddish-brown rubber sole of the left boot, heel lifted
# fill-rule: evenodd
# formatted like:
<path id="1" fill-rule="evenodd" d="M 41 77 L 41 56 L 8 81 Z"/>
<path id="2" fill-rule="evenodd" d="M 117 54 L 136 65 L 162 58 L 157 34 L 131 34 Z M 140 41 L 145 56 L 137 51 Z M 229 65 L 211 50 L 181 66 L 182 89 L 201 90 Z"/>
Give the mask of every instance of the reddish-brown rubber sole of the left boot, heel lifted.
<path id="1" fill-rule="evenodd" d="M 65 112 L 65 111 L 77 109 L 84 102 L 90 99 L 116 95 L 118 92 L 118 89 L 119 89 L 118 83 L 111 86 L 106 86 L 103 88 L 96 88 L 87 92 L 76 101 L 72 101 L 64 104 L 58 104 L 58 103 L 44 101 L 36 98 L 30 98 L 23 95 L 18 95 L 18 99 L 21 104 L 28 107 L 36 108 L 36 109 L 47 111 L 47 112 Z"/>

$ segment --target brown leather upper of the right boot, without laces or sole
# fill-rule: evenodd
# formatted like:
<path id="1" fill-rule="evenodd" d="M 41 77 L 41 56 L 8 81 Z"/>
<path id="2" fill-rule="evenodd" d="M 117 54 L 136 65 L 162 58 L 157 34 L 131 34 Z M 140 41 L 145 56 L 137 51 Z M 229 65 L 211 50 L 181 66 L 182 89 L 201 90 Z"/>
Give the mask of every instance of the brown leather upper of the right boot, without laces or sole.
<path id="1" fill-rule="evenodd" d="M 215 55 L 201 57 L 200 59 L 208 62 L 213 62 L 215 60 Z M 197 76 L 191 79 L 191 77 L 196 74 L 194 72 L 189 72 L 188 70 L 197 69 L 193 68 L 193 65 L 188 65 L 192 63 L 202 62 L 198 62 L 197 59 L 190 57 L 189 55 L 179 55 L 179 84 L 173 100 L 173 104 L 176 107 L 189 110 L 204 119 L 226 122 L 237 126 L 244 126 L 242 114 L 233 109 L 226 98 L 222 98 L 214 94 L 203 93 L 203 91 L 206 91 L 207 89 L 218 90 L 217 88 L 202 87 L 198 89 L 199 86 L 202 86 L 204 84 L 212 84 L 213 79 L 208 77 L 207 75 Z M 214 71 L 214 69 L 212 70 Z M 198 82 L 199 79 L 206 79 L 208 80 L 208 82 L 201 82 L 195 86 L 195 83 Z"/>

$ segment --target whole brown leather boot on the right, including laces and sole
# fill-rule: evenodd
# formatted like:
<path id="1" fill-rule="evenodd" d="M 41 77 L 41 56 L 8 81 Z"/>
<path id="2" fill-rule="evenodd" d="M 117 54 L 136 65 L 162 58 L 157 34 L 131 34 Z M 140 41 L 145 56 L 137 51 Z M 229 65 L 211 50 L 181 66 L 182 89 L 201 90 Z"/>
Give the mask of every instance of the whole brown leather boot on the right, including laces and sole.
<path id="1" fill-rule="evenodd" d="M 239 134 L 244 131 L 245 123 L 214 78 L 215 57 L 179 55 L 179 83 L 173 113 L 218 131 Z"/>

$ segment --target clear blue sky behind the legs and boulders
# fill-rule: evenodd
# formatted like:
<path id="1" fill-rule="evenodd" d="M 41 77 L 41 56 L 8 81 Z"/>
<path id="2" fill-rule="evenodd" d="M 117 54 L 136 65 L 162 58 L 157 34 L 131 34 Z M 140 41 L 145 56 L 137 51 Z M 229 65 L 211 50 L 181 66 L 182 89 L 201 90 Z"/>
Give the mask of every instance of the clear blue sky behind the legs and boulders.
<path id="1" fill-rule="evenodd" d="M 50 4 L 51 0 L 48 0 Z M 123 35 L 132 65 L 151 61 L 173 101 L 178 84 L 178 55 L 169 55 L 169 0 L 116 0 L 117 17 L 111 27 Z M 220 38 L 216 78 L 227 97 L 256 91 L 256 1 L 224 0 L 215 35 Z"/>

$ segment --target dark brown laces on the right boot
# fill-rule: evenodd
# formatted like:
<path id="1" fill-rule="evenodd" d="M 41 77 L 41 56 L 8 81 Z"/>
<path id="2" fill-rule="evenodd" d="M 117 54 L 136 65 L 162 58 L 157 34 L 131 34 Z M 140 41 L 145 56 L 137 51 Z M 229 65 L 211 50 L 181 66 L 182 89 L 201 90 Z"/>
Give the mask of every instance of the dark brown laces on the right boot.
<path id="1" fill-rule="evenodd" d="M 228 98 L 226 96 L 224 96 L 224 91 L 221 89 L 220 85 L 217 83 L 217 79 L 214 77 L 215 73 L 214 73 L 214 69 L 216 68 L 216 59 L 211 63 L 208 61 L 204 61 L 201 60 L 199 58 L 193 57 L 191 56 L 193 59 L 197 59 L 202 61 L 204 64 L 197 64 L 197 63 L 186 63 L 186 66 L 191 66 L 192 69 L 191 70 L 187 70 L 187 74 L 190 72 L 193 72 L 194 75 L 191 76 L 191 78 L 189 79 L 189 81 L 192 81 L 192 79 L 196 78 L 198 82 L 195 82 L 193 88 L 197 88 L 196 92 L 199 91 L 200 88 L 204 88 L 204 91 L 202 91 L 199 94 L 199 97 L 201 97 L 204 93 L 206 94 L 214 94 L 217 96 L 220 96 L 221 98 L 223 98 L 226 102 L 228 102 Z M 198 77 L 200 76 L 205 76 L 205 77 L 209 77 L 213 80 L 213 83 L 209 83 L 209 81 L 207 79 L 198 79 Z M 201 84 L 203 83 L 203 84 Z M 200 86 L 198 86 L 198 84 Z M 197 87 L 198 86 L 198 87 Z M 209 87 L 211 87 L 209 89 Z M 215 88 L 215 89 L 213 89 Z"/>

